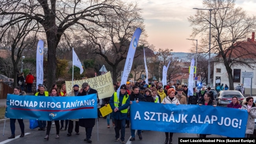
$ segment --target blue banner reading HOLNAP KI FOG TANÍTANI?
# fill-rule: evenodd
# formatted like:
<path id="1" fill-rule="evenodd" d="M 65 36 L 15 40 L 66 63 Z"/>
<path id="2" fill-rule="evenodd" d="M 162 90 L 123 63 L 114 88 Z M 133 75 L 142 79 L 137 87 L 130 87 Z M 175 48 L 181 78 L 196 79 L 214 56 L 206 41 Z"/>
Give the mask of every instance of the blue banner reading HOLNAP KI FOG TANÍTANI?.
<path id="1" fill-rule="evenodd" d="M 37 120 L 97 118 L 97 96 L 19 96 L 7 94 L 6 117 Z"/>

